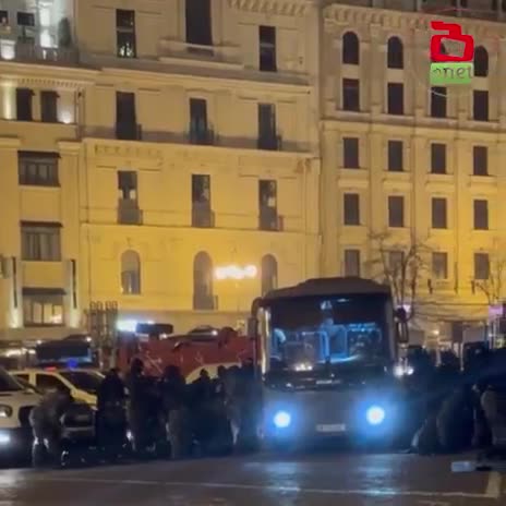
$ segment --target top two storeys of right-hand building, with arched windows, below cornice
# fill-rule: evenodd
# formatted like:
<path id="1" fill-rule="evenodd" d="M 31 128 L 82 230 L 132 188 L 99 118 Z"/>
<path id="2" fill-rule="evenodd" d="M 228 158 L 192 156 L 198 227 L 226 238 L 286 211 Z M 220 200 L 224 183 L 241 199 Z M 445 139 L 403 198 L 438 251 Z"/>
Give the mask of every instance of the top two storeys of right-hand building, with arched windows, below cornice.
<path id="1" fill-rule="evenodd" d="M 506 123 L 501 85 L 506 73 L 506 25 L 459 20 L 474 38 L 474 75 L 469 85 L 430 82 L 431 20 L 453 22 L 444 9 L 420 15 L 333 4 L 324 10 L 322 116 L 370 121 L 427 123 L 462 129 L 497 129 Z M 448 55 L 461 47 L 447 39 Z"/>

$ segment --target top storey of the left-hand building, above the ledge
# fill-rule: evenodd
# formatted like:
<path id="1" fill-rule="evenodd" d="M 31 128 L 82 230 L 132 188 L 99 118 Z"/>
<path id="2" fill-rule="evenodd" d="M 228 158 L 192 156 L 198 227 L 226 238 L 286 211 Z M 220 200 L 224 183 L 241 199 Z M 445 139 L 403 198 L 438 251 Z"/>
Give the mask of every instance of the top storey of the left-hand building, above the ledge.
<path id="1" fill-rule="evenodd" d="M 5 0 L 1 59 L 306 81 L 316 11 L 306 0 Z M 246 71 L 248 73 L 244 73 Z"/>

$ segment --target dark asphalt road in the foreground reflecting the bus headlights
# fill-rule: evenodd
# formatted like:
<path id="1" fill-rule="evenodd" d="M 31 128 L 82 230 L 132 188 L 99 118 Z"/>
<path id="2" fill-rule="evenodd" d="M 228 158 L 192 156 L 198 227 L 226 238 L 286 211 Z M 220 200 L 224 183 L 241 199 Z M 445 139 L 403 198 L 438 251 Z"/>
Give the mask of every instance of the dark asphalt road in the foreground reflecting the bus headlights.
<path id="1" fill-rule="evenodd" d="M 501 472 L 451 472 L 462 457 L 260 455 L 62 471 L 0 472 L 0 506 L 492 506 Z"/>

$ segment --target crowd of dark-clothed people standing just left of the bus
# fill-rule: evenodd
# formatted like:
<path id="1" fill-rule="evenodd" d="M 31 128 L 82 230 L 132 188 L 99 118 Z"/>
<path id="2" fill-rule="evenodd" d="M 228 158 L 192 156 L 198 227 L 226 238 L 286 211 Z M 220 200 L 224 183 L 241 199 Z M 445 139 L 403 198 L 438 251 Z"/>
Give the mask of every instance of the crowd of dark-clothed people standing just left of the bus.
<path id="1" fill-rule="evenodd" d="M 134 453 L 142 457 L 153 445 L 183 458 L 248 449 L 256 442 L 260 390 L 252 363 L 219 366 L 212 380 L 203 369 L 186 384 L 179 368 L 169 365 L 161 378 L 144 374 L 140 359 L 125 378 L 128 419 Z"/>

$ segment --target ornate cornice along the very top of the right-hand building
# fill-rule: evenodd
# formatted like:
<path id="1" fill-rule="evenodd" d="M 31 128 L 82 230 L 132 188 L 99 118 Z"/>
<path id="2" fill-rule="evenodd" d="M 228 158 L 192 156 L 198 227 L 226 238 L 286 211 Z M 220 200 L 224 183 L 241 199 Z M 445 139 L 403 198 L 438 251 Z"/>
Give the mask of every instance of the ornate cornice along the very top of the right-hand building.
<path id="1" fill-rule="evenodd" d="M 487 20 L 444 16 L 430 12 L 406 12 L 338 4 L 328 5 L 324 9 L 324 23 L 329 29 L 346 25 L 430 32 L 430 22 L 434 19 L 459 23 L 462 26 L 462 32 L 477 38 L 506 37 L 505 24 Z M 479 44 L 479 40 L 477 40 L 477 44 Z"/>

